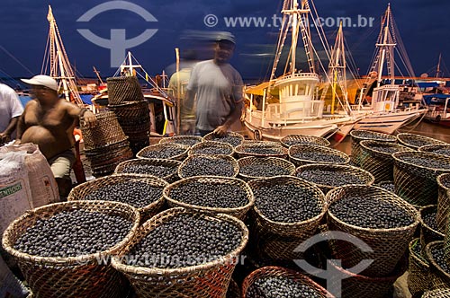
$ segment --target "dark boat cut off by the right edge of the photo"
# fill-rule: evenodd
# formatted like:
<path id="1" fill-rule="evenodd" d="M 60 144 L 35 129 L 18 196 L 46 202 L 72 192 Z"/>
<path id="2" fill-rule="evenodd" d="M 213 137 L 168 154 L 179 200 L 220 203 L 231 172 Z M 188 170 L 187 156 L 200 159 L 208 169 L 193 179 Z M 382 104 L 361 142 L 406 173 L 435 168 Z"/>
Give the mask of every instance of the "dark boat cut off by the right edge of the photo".
<path id="1" fill-rule="evenodd" d="M 450 94 L 428 94 L 423 99 L 428 107 L 425 119 L 432 123 L 437 123 L 450 127 Z"/>

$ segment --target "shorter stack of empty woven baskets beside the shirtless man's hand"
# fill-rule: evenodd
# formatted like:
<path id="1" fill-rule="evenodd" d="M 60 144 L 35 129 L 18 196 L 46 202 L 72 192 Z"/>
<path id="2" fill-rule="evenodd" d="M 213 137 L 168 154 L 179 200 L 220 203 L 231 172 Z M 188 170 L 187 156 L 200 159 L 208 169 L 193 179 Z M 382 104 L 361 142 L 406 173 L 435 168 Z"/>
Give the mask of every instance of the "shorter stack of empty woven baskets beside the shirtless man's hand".
<path id="1" fill-rule="evenodd" d="M 97 125 L 88 127 L 84 118 L 80 127 L 85 142 L 85 156 L 91 164 L 95 177 L 111 174 L 115 167 L 132 157 L 128 137 L 125 136 L 117 118 L 111 111 L 102 112 Z"/>

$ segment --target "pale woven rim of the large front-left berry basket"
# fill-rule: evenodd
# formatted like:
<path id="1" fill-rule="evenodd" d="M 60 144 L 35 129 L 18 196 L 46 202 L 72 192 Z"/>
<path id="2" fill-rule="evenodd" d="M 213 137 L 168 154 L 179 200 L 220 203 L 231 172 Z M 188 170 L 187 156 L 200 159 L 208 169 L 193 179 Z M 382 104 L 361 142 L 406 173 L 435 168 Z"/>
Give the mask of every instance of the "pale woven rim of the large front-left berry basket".
<path id="1" fill-rule="evenodd" d="M 4 247 L 4 250 L 6 250 L 8 253 L 10 253 L 11 255 L 13 255 L 15 258 L 18 258 L 18 259 L 27 259 L 27 260 L 32 259 L 36 263 L 40 263 L 40 264 L 50 263 L 52 265 L 58 265 L 58 266 L 66 265 L 67 263 L 72 264 L 72 265 L 75 265 L 77 263 L 77 265 L 79 265 L 79 266 L 84 266 L 85 262 L 97 259 L 99 257 L 106 256 L 106 255 L 113 255 L 113 254 L 118 253 L 134 237 L 136 232 L 138 232 L 140 215 L 139 215 L 139 211 L 137 208 L 130 206 L 128 204 L 125 204 L 125 203 L 114 202 L 114 201 L 98 200 L 98 201 L 94 201 L 94 202 L 98 202 L 99 204 L 104 204 L 104 205 L 118 205 L 125 209 L 128 208 L 130 210 L 130 212 L 132 212 L 134 215 L 134 223 L 133 223 L 132 227 L 130 228 L 130 232 L 127 233 L 125 238 L 122 239 L 121 241 L 119 241 L 118 243 L 116 243 L 114 246 L 112 246 L 108 250 L 85 254 L 85 255 L 81 255 L 81 256 L 77 256 L 77 257 L 66 257 L 66 258 L 63 258 L 63 257 L 40 257 L 40 256 L 30 255 L 30 254 L 22 252 L 20 250 L 15 250 L 14 243 L 9 243 L 8 238 L 10 237 L 10 234 L 13 232 L 14 227 L 19 225 L 20 223 L 23 223 L 23 221 L 28 220 L 33 215 L 39 215 L 44 210 L 52 209 L 54 206 L 66 205 L 67 209 L 69 209 L 69 210 L 73 210 L 74 207 L 76 207 L 77 209 L 81 209 L 83 206 L 91 205 L 92 202 L 93 201 L 58 202 L 58 203 L 53 203 L 53 204 L 49 204 L 49 205 L 45 205 L 45 206 L 40 206 L 38 208 L 34 208 L 34 209 L 26 211 L 23 215 L 16 218 L 12 223 L 10 223 L 8 225 L 8 228 L 4 231 L 3 238 L 2 238 L 2 245 Z M 65 209 L 65 210 L 67 210 L 67 209 Z M 56 214 L 58 214 L 58 213 L 56 213 Z M 12 245 L 10 245 L 10 244 L 12 244 Z"/>

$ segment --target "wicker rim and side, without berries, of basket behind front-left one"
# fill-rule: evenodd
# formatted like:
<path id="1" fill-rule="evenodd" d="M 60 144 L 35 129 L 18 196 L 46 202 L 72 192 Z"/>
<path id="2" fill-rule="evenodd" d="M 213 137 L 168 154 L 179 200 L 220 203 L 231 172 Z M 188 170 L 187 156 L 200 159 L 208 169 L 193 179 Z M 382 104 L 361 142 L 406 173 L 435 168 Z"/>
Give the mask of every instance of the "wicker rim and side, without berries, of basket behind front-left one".
<path id="1" fill-rule="evenodd" d="M 165 180 L 161 180 L 157 177 L 149 177 L 145 175 L 139 174 L 117 174 L 112 176 L 107 176 L 95 180 L 90 180 L 80 185 L 77 185 L 75 188 L 72 188 L 70 193 L 68 194 L 68 201 L 80 201 L 85 200 L 85 197 L 94 191 L 101 189 L 108 185 L 114 185 L 121 182 L 140 182 L 150 185 L 155 188 L 165 188 L 168 183 Z M 161 191 L 162 192 L 162 191 Z M 161 211 L 162 206 L 164 205 L 164 197 L 161 194 L 161 197 L 158 197 L 155 201 L 151 202 L 147 206 L 144 207 L 136 207 L 139 211 L 142 222 L 147 220 L 153 215 L 157 215 L 159 211 Z"/>

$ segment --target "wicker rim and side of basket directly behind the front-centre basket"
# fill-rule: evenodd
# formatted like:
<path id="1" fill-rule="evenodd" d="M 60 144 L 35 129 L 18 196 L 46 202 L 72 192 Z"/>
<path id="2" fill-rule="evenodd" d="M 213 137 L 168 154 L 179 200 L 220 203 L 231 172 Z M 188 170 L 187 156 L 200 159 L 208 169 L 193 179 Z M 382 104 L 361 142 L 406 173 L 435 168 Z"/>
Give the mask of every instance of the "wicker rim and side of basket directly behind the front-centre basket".
<path id="1" fill-rule="evenodd" d="M 191 182 L 201 182 L 213 185 L 219 184 L 231 184 L 236 185 L 238 188 L 244 189 L 247 194 L 247 204 L 244 206 L 238 206 L 236 208 L 220 208 L 220 207 L 208 207 L 208 206 L 197 206 L 191 205 L 184 202 L 180 202 L 175 200 L 170 196 L 170 192 L 174 188 L 178 188 L 182 185 L 191 183 Z M 239 219 L 244 219 L 247 215 L 248 210 L 255 204 L 255 198 L 253 197 L 252 190 L 248 187 L 247 183 L 243 180 L 239 180 L 237 178 L 228 178 L 228 177 L 218 177 L 218 176 L 196 176 L 191 178 L 186 178 L 184 180 L 176 181 L 175 183 L 170 184 L 166 188 L 164 188 L 163 196 L 166 198 L 166 201 L 169 206 L 172 207 L 184 207 L 187 210 L 193 211 L 202 211 L 209 212 L 211 214 L 226 214 L 238 217 Z M 232 196 L 232 194 L 229 194 Z"/>

